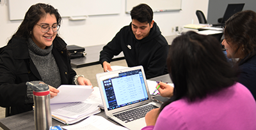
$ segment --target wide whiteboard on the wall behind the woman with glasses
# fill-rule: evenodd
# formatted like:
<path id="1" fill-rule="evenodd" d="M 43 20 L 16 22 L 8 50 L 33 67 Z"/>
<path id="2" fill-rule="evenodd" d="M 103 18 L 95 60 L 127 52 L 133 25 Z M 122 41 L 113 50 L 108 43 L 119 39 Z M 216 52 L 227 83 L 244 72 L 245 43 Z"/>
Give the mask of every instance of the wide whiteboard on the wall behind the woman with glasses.
<path id="1" fill-rule="evenodd" d="M 9 0 L 10 20 L 22 20 L 29 7 L 36 3 L 51 4 L 61 17 L 119 14 L 120 0 Z"/>

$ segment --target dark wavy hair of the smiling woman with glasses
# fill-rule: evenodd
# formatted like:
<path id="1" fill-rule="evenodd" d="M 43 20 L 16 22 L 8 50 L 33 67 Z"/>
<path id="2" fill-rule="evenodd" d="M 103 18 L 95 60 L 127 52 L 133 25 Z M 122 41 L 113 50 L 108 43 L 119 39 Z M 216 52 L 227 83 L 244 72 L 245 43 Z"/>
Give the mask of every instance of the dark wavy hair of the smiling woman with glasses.
<path id="1" fill-rule="evenodd" d="M 54 14 L 57 20 L 57 24 L 61 24 L 60 13 L 58 13 L 58 10 L 53 6 L 43 3 L 34 4 L 26 12 L 24 20 L 20 24 L 17 32 L 13 34 L 13 37 L 19 37 L 28 40 L 28 38 L 31 37 L 31 31 L 33 30 L 34 25 L 36 25 L 40 18 L 47 15 L 47 13 L 50 13 L 51 15 Z"/>

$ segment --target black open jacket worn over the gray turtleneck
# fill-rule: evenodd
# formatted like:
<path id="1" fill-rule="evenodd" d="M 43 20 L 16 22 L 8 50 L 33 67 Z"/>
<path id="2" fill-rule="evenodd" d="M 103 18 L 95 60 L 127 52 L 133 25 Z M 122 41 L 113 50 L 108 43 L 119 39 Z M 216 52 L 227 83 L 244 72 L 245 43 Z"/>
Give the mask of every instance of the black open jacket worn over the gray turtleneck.
<path id="1" fill-rule="evenodd" d="M 56 36 L 52 54 L 60 69 L 61 84 L 73 84 L 76 72 L 71 68 L 66 45 Z M 0 106 L 11 106 L 11 115 L 32 110 L 33 103 L 25 104 L 25 83 L 38 80 L 42 78 L 29 57 L 27 41 L 12 38 L 0 52 Z"/>

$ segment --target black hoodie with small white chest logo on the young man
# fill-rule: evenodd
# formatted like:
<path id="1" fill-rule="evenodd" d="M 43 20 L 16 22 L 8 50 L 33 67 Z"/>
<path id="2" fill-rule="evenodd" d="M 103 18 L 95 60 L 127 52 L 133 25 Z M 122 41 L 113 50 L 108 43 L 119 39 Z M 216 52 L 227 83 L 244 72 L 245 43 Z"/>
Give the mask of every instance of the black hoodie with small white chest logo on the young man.
<path id="1" fill-rule="evenodd" d="M 142 40 L 137 40 L 132 32 L 131 24 L 123 27 L 100 52 L 100 64 L 111 62 L 114 55 L 124 52 L 129 67 L 143 66 L 147 78 L 164 75 L 167 72 L 166 58 L 168 43 L 154 22 L 150 34 Z"/>

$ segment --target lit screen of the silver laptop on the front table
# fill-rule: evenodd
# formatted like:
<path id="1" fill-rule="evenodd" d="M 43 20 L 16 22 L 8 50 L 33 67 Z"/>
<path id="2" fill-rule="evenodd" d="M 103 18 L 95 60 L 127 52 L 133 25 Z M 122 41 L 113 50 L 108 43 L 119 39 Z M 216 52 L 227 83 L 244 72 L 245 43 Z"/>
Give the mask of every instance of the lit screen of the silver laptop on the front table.
<path id="1" fill-rule="evenodd" d="M 100 81 L 108 110 L 148 100 L 142 73 L 141 69 L 125 71 Z"/>

